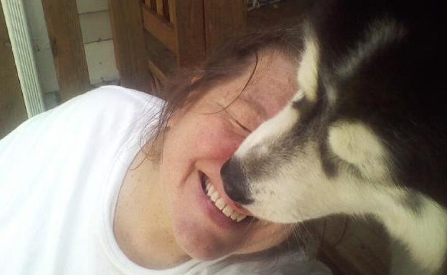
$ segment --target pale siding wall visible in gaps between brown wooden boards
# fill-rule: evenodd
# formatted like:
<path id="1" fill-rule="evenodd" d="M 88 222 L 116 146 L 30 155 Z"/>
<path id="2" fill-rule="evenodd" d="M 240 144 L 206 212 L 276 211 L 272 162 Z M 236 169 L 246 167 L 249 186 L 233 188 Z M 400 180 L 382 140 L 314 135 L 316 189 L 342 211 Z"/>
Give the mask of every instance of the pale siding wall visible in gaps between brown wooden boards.
<path id="1" fill-rule="evenodd" d="M 57 92 L 56 72 L 41 0 L 24 1 L 34 42 L 39 78 L 44 93 Z M 90 83 L 94 86 L 116 82 L 113 38 L 107 0 L 77 0 Z"/>

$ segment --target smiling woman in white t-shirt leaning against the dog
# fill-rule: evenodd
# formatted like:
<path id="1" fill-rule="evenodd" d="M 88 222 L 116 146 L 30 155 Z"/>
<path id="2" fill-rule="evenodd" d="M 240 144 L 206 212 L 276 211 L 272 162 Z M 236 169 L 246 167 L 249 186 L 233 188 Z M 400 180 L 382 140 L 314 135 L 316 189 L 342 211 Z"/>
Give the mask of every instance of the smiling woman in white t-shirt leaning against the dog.
<path id="1" fill-rule="evenodd" d="M 172 85 L 167 104 L 108 86 L 19 126 L 0 141 L 2 273 L 323 270 L 226 259 L 292 232 L 249 217 L 219 170 L 296 92 L 297 47 L 289 30 L 251 35 Z"/>

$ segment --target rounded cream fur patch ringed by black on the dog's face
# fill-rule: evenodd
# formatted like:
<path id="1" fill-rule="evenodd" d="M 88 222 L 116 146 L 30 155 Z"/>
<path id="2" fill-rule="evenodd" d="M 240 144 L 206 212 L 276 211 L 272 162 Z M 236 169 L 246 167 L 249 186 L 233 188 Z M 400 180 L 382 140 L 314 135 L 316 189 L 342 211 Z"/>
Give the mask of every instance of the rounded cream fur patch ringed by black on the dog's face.
<path id="1" fill-rule="evenodd" d="M 367 178 L 388 175 L 387 152 L 372 129 L 360 122 L 338 121 L 329 127 L 331 151 L 343 161 L 356 166 Z"/>

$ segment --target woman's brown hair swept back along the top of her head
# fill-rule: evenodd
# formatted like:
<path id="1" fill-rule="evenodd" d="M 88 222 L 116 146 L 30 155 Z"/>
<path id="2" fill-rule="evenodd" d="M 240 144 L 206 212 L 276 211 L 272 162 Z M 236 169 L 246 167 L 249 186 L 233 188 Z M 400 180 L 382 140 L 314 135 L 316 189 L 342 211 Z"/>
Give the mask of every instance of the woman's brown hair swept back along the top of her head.
<path id="1" fill-rule="evenodd" d="M 252 64 L 254 58 L 252 77 L 258 65 L 260 51 L 279 51 L 291 60 L 298 62 L 302 49 L 301 39 L 297 24 L 251 32 L 223 43 L 202 66 L 177 72 L 176 76 L 168 81 L 160 92 L 160 96 L 166 100 L 166 104 L 159 112 L 156 126 L 149 132 L 149 136 L 145 137 L 145 141 L 159 141 L 161 143 L 157 142 L 157 144 L 163 145 L 165 130 L 175 111 L 194 105 L 211 88 L 240 75 Z M 159 153 L 161 153 L 157 151 L 156 147 L 151 146 L 147 152 L 155 158 L 159 157 Z"/>

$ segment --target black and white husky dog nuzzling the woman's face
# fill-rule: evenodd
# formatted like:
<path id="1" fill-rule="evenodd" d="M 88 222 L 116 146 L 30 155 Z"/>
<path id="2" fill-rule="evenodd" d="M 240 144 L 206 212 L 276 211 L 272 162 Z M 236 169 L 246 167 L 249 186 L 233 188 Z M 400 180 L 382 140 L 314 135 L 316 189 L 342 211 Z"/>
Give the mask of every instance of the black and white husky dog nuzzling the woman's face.
<path id="1" fill-rule="evenodd" d="M 317 4 L 304 24 L 299 90 L 222 167 L 227 194 L 279 223 L 372 214 L 407 249 L 411 268 L 392 273 L 447 274 L 439 3 Z"/>

